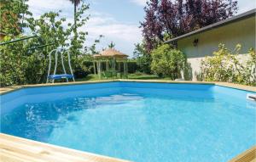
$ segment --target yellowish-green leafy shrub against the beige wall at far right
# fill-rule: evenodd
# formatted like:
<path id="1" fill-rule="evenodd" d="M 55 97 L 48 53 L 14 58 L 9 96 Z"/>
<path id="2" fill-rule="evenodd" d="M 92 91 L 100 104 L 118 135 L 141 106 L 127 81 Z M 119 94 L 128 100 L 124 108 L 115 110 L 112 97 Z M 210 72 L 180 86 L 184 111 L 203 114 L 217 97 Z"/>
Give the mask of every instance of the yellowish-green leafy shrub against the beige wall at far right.
<path id="1" fill-rule="evenodd" d="M 237 44 L 233 51 L 224 44 L 219 44 L 218 51 L 213 53 L 213 57 L 206 57 L 201 62 L 203 80 L 255 85 L 255 50 L 252 48 L 248 51 L 248 59 L 245 62 L 239 59 L 240 50 L 240 44 Z"/>

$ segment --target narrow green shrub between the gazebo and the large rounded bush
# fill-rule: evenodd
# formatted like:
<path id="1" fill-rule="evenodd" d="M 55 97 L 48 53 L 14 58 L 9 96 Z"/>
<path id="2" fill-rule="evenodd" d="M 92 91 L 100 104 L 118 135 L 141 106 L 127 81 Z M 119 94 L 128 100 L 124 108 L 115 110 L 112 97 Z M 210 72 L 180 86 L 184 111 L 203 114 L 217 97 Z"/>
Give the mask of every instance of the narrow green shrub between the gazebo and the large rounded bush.
<path id="1" fill-rule="evenodd" d="M 144 43 L 135 44 L 133 56 L 136 59 L 139 71 L 146 74 L 150 74 L 151 56 L 146 51 Z"/>

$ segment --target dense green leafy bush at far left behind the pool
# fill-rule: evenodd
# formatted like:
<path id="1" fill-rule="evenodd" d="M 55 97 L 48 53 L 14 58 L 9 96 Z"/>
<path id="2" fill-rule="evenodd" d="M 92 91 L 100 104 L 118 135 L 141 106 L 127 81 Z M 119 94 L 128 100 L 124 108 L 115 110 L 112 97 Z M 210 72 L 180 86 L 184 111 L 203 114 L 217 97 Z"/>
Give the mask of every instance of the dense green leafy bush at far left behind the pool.
<path id="1" fill-rule="evenodd" d="M 5 36 L 5 41 L 9 40 L 9 36 Z M 1 87 L 45 81 L 47 53 L 29 53 L 26 47 L 28 44 L 29 42 L 16 42 L 0 47 Z"/>

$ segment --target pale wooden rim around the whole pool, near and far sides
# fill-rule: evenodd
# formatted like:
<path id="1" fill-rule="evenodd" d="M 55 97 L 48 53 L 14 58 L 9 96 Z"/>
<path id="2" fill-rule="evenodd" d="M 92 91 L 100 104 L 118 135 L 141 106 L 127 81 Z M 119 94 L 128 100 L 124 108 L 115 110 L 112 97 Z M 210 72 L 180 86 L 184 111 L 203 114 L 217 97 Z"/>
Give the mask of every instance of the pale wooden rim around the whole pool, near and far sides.
<path id="1" fill-rule="evenodd" d="M 106 83 L 113 81 L 128 81 L 128 82 L 147 82 L 147 83 L 172 83 L 172 84 L 207 84 L 217 85 L 221 87 L 230 87 L 248 92 L 256 92 L 256 87 L 244 86 L 226 82 L 216 81 L 158 81 L 158 80 L 107 80 L 107 81 L 79 81 L 55 84 L 38 84 L 38 85 L 22 85 L 12 87 L 1 87 L 0 95 L 9 92 L 15 92 L 22 88 L 33 87 L 55 87 L 55 86 L 69 86 L 93 83 Z M 90 154 L 83 151 L 63 148 L 51 145 L 44 142 L 36 142 L 22 137 L 14 137 L 4 133 L 0 133 L 0 161 L 24 162 L 50 162 L 50 161 L 69 161 L 69 162 L 128 162 L 124 159 L 115 159 L 108 156 L 98 154 Z M 256 146 L 247 149 L 245 152 L 239 154 L 230 162 L 255 162 L 256 161 Z"/>

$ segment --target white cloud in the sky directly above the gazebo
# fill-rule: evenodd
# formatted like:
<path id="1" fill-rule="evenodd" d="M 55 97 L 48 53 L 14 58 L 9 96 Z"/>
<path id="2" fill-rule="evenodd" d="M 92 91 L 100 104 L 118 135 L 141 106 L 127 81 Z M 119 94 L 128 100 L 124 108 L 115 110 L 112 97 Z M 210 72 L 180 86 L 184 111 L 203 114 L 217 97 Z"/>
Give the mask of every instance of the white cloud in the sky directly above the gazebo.
<path id="1" fill-rule="evenodd" d="M 98 49 L 108 47 L 113 41 L 117 49 L 129 55 L 133 52 L 134 43 L 142 41 L 142 34 L 137 24 L 120 23 L 111 15 L 104 13 L 92 14 L 88 24 L 81 30 L 89 32 L 89 42 L 93 42 L 100 35 L 104 36 Z"/>

